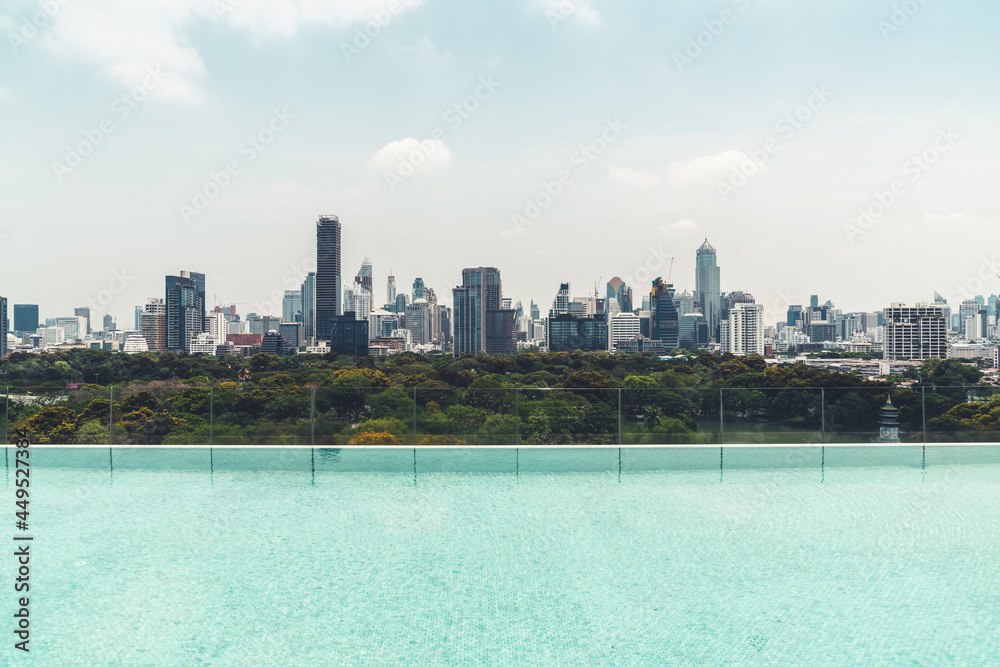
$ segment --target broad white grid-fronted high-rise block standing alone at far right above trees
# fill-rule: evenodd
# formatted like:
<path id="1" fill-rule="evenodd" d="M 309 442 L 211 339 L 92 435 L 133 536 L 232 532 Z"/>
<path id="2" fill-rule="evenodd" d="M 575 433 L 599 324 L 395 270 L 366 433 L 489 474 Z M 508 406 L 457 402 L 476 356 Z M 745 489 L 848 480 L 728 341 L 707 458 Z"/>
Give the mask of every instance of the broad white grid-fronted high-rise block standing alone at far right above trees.
<path id="1" fill-rule="evenodd" d="M 917 304 L 907 308 L 895 303 L 882 314 L 886 361 L 947 358 L 948 327 L 940 306 Z"/>

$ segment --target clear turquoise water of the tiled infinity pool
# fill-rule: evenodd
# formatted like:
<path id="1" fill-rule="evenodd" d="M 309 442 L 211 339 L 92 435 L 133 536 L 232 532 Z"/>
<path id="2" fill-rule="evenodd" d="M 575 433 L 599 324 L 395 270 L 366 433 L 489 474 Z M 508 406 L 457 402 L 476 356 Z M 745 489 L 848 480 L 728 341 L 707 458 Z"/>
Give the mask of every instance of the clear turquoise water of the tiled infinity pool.
<path id="1" fill-rule="evenodd" d="M 1000 664 L 996 447 L 32 462 L 4 664 Z"/>

